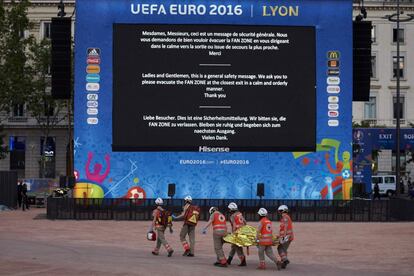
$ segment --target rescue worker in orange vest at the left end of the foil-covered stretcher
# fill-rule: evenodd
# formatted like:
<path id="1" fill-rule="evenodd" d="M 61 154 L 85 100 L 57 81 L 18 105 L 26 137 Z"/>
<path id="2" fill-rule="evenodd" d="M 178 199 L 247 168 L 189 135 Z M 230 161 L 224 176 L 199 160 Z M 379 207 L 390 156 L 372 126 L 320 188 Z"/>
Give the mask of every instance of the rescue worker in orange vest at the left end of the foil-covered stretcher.
<path id="1" fill-rule="evenodd" d="M 214 263 L 215 266 L 226 267 L 227 260 L 224 256 L 223 237 L 227 235 L 226 217 L 219 212 L 217 207 L 211 207 L 208 211 L 210 213 L 210 219 L 206 226 L 203 228 L 203 234 L 207 232 L 207 228 L 213 225 L 213 243 L 214 251 L 217 255 L 217 261 Z"/>

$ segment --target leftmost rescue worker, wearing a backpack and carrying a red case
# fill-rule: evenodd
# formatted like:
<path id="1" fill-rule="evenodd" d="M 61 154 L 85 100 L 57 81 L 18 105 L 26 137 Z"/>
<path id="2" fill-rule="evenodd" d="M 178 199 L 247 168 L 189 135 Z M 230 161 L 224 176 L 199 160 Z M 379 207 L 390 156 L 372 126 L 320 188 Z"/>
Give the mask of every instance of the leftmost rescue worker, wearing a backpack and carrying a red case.
<path id="1" fill-rule="evenodd" d="M 168 252 L 168 257 L 171 257 L 172 254 L 174 253 L 174 250 L 168 244 L 164 236 L 165 229 L 167 227 L 170 229 L 170 233 L 173 232 L 172 224 L 168 220 L 169 214 L 168 214 L 168 211 L 162 208 L 162 205 L 164 204 L 164 201 L 162 200 L 162 198 L 157 198 L 155 200 L 155 204 L 157 205 L 157 208 L 155 208 L 154 211 L 152 212 L 153 220 L 152 220 L 150 231 L 157 231 L 157 244 L 154 250 L 152 251 L 152 254 L 159 255 L 160 247 L 162 244 L 164 245 L 165 249 Z"/>

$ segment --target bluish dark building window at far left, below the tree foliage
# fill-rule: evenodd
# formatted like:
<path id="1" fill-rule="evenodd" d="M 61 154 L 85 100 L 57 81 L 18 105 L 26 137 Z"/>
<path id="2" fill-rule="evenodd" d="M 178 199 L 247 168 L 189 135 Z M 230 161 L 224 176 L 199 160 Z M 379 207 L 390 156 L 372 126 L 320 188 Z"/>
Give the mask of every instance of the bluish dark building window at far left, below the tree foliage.
<path id="1" fill-rule="evenodd" d="M 26 168 L 26 137 L 10 136 L 9 151 L 10 170 L 17 171 L 17 175 L 19 178 L 24 177 L 24 171 Z"/>

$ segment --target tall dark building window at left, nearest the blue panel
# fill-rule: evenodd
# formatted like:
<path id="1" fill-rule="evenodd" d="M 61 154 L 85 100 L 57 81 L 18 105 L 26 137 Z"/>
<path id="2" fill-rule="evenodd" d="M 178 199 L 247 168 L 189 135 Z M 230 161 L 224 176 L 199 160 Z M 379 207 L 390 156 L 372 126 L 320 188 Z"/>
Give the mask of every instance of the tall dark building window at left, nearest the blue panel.
<path id="1" fill-rule="evenodd" d="M 39 177 L 46 177 L 46 178 L 54 178 L 56 171 L 55 171 L 55 156 L 56 156 L 56 138 L 55 137 L 47 137 L 45 141 L 45 137 L 40 137 L 40 154 L 44 158 L 44 163 L 40 164 L 40 172 Z"/>

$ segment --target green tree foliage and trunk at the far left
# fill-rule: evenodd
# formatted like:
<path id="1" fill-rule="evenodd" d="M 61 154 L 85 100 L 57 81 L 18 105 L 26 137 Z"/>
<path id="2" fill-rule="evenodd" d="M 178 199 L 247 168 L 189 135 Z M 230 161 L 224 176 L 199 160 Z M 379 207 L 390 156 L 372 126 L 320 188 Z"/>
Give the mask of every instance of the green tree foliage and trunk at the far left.
<path id="1" fill-rule="evenodd" d="M 49 92 L 50 41 L 24 35 L 32 29 L 27 17 L 29 6 L 28 0 L 0 0 L 0 112 L 10 114 L 14 104 L 26 104 L 45 143 L 51 130 L 66 119 L 60 116 L 65 102 L 53 99 Z M 44 159 L 42 155 L 41 168 Z"/>

